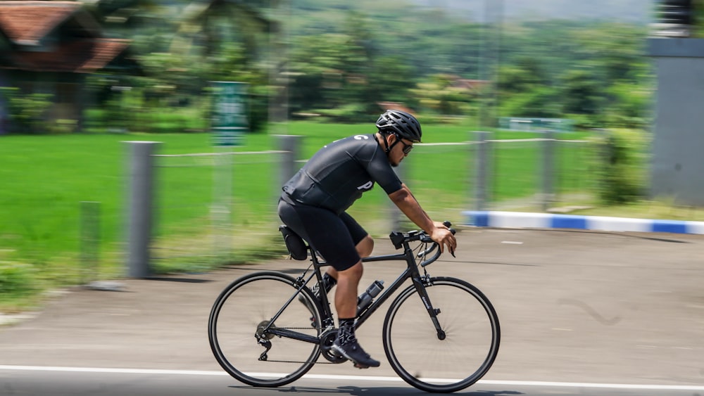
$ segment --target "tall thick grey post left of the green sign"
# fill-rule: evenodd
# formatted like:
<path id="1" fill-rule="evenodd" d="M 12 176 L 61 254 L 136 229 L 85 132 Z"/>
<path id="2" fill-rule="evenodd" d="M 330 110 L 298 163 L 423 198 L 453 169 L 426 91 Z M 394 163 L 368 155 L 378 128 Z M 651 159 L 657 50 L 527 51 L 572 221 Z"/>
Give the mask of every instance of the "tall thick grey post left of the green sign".
<path id="1" fill-rule="evenodd" d="M 151 244 L 154 201 L 153 153 L 158 141 L 126 141 L 127 162 L 127 275 L 151 275 Z"/>

